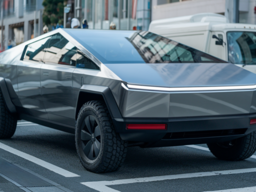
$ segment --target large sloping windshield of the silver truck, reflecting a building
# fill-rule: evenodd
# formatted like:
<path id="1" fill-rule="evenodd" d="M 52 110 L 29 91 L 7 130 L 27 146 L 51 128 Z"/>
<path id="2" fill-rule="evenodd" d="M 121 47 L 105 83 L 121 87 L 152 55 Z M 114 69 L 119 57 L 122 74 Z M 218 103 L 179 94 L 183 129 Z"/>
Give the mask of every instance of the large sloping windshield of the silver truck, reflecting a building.
<path id="1" fill-rule="evenodd" d="M 102 63 L 225 62 L 148 31 L 66 31 Z"/>

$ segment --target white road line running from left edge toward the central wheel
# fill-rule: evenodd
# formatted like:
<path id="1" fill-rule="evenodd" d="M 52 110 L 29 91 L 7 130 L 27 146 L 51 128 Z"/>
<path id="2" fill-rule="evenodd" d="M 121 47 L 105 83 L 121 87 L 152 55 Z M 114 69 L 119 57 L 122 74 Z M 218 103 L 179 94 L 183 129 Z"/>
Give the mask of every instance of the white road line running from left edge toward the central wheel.
<path id="1" fill-rule="evenodd" d="M 58 166 L 55 166 L 55 165 L 53 165 L 51 163 L 48 163 L 48 162 L 46 162 L 44 160 L 36 158 L 36 157 L 34 157 L 34 156 L 30 155 L 30 154 L 27 154 L 27 153 L 24 153 L 24 152 L 22 152 L 20 150 L 12 148 L 12 147 L 10 147 L 10 146 L 8 146 L 6 144 L 3 144 L 1 142 L 0 142 L 0 148 L 3 149 L 3 150 L 6 150 L 6 151 L 8 151 L 8 152 L 10 152 L 12 154 L 15 154 L 17 156 L 20 156 L 20 157 L 22 157 L 22 158 L 24 158 L 26 160 L 29 160 L 29 161 L 31 161 L 31 162 L 33 162 L 35 164 L 38 164 L 38 165 L 40 165 L 40 166 L 42 166 L 44 168 L 47 168 L 47 169 L 49 169 L 49 170 L 51 170 L 51 171 L 53 171 L 55 173 L 58 173 L 58 174 L 60 174 L 62 176 L 65 176 L 65 177 L 80 176 L 78 174 L 69 172 L 68 170 L 60 168 Z"/>

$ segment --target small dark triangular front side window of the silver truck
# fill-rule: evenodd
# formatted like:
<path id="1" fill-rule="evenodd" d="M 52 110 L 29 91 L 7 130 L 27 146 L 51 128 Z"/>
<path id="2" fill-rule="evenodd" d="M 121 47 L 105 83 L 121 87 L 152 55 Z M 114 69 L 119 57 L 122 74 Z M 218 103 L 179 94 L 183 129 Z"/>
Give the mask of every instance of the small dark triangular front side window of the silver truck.
<path id="1" fill-rule="evenodd" d="M 98 65 L 96 65 L 92 60 L 90 60 L 83 52 L 77 49 L 76 57 L 76 67 L 99 70 Z"/>

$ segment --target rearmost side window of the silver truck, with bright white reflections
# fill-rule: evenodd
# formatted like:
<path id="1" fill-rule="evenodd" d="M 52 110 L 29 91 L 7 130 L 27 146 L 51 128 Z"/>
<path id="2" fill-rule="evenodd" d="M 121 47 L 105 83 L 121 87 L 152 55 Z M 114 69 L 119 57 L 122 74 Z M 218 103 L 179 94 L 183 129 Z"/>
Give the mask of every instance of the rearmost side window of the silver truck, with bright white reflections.
<path id="1" fill-rule="evenodd" d="M 26 46 L 23 60 L 43 61 L 45 48 L 49 43 L 50 37 L 32 42 Z"/>

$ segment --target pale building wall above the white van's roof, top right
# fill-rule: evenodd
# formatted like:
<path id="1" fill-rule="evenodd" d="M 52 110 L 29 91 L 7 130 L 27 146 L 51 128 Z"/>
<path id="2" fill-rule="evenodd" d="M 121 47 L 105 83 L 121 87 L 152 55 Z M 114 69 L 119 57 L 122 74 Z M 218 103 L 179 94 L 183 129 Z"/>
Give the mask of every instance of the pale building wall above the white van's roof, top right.
<path id="1" fill-rule="evenodd" d="M 186 16 L 212 12 L 225 15 L 232 20 L 228 11 L 234 0 L 152 0 L 151 19 Z M 256 0 L 239 0 L 239 22 L 256 24 Z"/>

